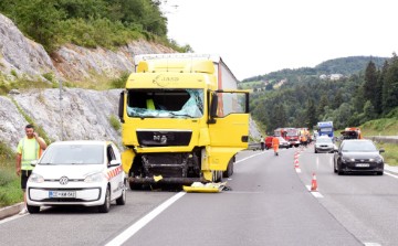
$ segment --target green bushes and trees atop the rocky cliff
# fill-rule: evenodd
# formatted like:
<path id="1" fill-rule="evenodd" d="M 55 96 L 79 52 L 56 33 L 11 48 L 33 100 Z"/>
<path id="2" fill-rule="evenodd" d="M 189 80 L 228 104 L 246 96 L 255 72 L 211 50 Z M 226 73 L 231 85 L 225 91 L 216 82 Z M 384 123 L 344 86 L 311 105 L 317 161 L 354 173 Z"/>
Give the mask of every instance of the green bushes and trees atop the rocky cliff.
<path id="1" fill-rule="evenodd" d="M 51 53 L 60 45 L 113 49 L 146 39 L 185 52 L 167 39 L 160 0 L 2 0 L 0 12 Z"/>

